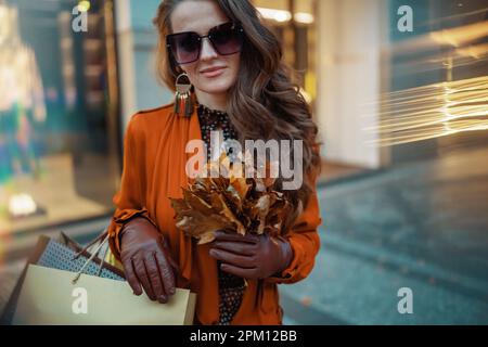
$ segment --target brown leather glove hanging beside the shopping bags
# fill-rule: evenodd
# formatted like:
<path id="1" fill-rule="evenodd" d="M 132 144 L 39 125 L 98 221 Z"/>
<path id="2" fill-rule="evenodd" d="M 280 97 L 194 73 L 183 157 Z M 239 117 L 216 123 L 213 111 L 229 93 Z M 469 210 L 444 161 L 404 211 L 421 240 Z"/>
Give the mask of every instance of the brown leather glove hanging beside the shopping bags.
<path id="1" fill-rule="evenodd" d="M 134 218 L 120 232 L 120 258 L 126 279 L 133 294 L 142 287 L 151 300 L 166 304 L 176 292 L 176 262 L 169 255 L 166 240 L 145 218 Z"/>

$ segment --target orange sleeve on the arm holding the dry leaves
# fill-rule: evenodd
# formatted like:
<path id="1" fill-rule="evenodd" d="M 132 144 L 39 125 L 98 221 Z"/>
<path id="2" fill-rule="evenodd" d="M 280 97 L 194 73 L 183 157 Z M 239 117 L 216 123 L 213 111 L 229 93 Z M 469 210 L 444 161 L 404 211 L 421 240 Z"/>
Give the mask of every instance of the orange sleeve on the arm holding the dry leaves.
<path id="1" fill-rule="evenodd" d="M 293 258 L 290 266 L 280 274 L 266 281 L 271 283 L 295 283 L 305 279 L 312 270 L 316 256 L 320 249 L 318 228 L 322 223 L 316 189 L 317 175 L 311 176 L 312 193 L 301 215 L 287 233 Z"/>

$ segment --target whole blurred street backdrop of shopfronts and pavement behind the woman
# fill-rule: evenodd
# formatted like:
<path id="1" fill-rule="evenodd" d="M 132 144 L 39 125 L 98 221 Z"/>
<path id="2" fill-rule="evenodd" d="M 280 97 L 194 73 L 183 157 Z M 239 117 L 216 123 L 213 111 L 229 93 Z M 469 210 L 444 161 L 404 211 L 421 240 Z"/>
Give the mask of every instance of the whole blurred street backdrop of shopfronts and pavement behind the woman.
<path id="1" fill-rule="evenodd" d="M 103 230 L 130 116 L 171 102 L 158 3 L 0 0 L 0 309 L 40 233 Z M 488 323 L 487 2 L 254 3 L 323 142 L 323 249 L 286 322 Z"/>

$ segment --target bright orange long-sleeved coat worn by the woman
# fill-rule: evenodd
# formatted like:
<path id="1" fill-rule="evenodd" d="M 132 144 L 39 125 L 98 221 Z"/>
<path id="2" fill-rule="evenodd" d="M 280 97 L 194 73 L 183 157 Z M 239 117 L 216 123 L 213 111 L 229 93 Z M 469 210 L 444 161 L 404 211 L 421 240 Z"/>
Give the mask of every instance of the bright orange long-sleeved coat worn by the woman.
<path id="1" fill-rule="evenodd" d="M 118 233 L 124 223 L 136 216 L 150 219 L 167 239 L 179 265 L 177 286 L 197 294 L 195 324 L 217 324 L 218 272 L 216 259 L 209 255 L 210 245 L 196 245 L 177 229 L 168 198 L 182 197 L 181 188 L 188 187 L 185 165 L 195 154 L 185 153 L 185 146 L 194 139 L 202 139 L 196 107 L 190 118 L 175 115 L 172 104 L 132 116 L 124 141 L 121 187 L 113 200 L 117 208 L 108 227 L 110 245 L 119 259 Z M 320 247 L 317 232 L 320 223 L 317 193 L 313 192 L 287 236 L 294 253 L 290 267 L 281 278 L 247 281 L 232 324 L 282 323 L 277 284 L 294 283 L 310 273 Z"/>

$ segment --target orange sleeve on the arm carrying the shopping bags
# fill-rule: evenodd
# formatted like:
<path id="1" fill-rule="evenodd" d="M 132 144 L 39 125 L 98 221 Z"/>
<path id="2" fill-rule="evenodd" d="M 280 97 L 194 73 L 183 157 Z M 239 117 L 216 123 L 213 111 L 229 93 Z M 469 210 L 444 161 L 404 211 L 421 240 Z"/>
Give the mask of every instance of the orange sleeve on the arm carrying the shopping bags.
<path id="1" fill-rule="evenodd" d="M 129 121 L 124 139 L 120 189 L 113 198 L 116 209 L 108 226 L 108 244 L 117 260 L 120 260 L 119 233 L 129 220 L 144 217 L 156 226 L 145 207 L 144 139 L 138 134 L 137 117 L 138 115 L 134 115 Z"/>

